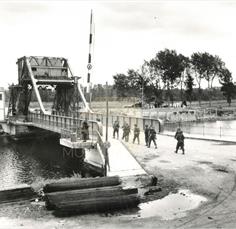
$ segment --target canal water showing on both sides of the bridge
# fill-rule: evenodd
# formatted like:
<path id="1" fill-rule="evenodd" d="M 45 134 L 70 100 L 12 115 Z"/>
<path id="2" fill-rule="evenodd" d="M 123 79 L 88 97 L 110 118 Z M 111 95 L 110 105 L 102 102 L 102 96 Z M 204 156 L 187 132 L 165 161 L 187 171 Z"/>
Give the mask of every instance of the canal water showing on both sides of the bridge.
<path id="1" fill-rule="evenodd" d="M 176 131 L 178 123 L 165 126 Z M 232 137 L 236 135 L 236 120 L 189 122 L 181 124 L 186 133 Z M 48 135 L 26 141 L 13 141 L 0 136 L 0 187 L 71 177 L 87 173 L 78 158 L 65 155 L 59 136 Z M 88 174 L 86 174 L 88 175 Z"/>

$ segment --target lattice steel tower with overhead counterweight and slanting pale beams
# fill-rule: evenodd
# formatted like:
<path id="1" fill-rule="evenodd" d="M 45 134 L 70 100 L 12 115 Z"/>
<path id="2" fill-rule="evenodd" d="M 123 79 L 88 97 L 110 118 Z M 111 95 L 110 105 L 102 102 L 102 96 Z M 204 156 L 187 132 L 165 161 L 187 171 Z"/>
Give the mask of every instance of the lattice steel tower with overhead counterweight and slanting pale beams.
<path id="1" fill-rule="evenodd" d="M 40 110 L 46 114 L 40 90 L 51 86 L 55 90 L 53 110 L 67 114 L 80 107 L 90 111 L 78 77 L 73 76 L 68 60 L 61 57 L 22 57 L 17 60 L 18 85 L 10 87 L 8 115 L 27 115 L 34 91 Z"/>

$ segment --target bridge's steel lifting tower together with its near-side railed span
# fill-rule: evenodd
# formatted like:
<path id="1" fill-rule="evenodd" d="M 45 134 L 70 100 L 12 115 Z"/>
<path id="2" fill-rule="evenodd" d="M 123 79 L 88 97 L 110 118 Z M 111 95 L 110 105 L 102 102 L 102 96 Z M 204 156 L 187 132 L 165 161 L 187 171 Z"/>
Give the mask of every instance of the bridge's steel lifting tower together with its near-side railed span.
<path id="1" fill-rule="evenodd" d="M 31 134 L 32 128 L 52 131 L 60 135 L 60 144 L 69 150 L 93 149 L 106 160 L 106 147 L 96 121 L 80 118 L 80 112 L 91 113 L 82 92 L 79 77 L 74 76 L 69 62 L 61 57 L 21 57 L 17 60 L 18 84 L 11 85 L 4 131 L 10 135 Z M 52 107 L 46 109 L 42 94 L 54 95 Z M 39 109 L 30 109 L 32 99 Z M 89 139 L 81 138 L 81 123 L 89 125 Z"/>

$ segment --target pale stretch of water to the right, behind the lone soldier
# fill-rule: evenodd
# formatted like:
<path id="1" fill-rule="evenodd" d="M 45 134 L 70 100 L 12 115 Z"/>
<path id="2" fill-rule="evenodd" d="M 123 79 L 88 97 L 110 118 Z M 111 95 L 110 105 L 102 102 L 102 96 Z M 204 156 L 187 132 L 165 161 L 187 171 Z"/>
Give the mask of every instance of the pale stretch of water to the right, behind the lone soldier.
<path id="1" fill-rule="evenodd" d="M 176 131 L 179 123 L 167 124 L 165 130 Z M 188 122 L 181 123 L 180 127 L 185 133 L 209 135 L 217 137 L 236 137 L 236 120 L 212 121 L 212 122 Z"/>

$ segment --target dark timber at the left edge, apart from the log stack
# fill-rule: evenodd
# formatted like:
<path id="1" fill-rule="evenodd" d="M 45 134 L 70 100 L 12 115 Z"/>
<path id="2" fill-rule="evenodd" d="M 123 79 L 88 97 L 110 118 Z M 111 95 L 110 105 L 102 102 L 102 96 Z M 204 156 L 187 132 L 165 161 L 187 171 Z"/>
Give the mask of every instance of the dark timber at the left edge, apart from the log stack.
<path id="1" fill-rule="evenodd" d="M 36 193 L 29 185 L 18 185 L 13 188 L 0 190 L 0 203 L 31 200 L 34 197 L 36 197 Z"/>

